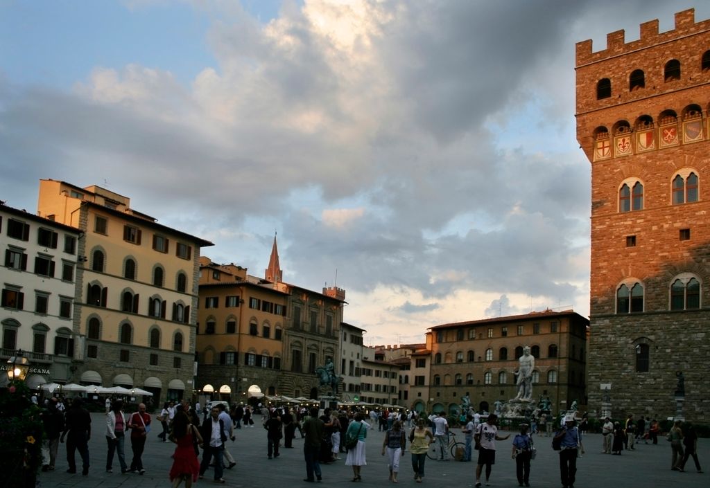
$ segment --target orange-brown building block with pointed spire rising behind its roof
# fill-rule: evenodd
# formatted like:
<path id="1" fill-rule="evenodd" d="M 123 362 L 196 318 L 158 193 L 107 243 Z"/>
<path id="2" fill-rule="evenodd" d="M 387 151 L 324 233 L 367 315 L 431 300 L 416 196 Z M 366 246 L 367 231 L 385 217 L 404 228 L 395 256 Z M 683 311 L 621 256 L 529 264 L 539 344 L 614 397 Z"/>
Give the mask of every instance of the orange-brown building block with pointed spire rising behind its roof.
<path id="1" fill-rule="evenodd" d="M 203 398 L 246 401 L 250 394 L 320 398 L 318 366 L 338 376 L 345 291 L 322 293 L 282 280 L 276 238 L 264 277 L 234 264 L 200 260 L 197 389 Z M 342 384 L 340 385 L 342 389 Z"/>

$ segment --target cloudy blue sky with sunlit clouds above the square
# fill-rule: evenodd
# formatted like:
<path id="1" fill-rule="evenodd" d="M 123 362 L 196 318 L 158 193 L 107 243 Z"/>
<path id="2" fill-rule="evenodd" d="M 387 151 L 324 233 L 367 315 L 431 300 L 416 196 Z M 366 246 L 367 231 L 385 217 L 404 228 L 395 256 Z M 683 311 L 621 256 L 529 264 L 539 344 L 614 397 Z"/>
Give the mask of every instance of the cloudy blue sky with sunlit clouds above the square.
<path id="1" fill-rule="evenodd" d="M 346 291 L 366 345 L 589 316 L 575 43 L 710 2 L 0 0 L 0 200 L 92 184 L 214 262 Z"/>

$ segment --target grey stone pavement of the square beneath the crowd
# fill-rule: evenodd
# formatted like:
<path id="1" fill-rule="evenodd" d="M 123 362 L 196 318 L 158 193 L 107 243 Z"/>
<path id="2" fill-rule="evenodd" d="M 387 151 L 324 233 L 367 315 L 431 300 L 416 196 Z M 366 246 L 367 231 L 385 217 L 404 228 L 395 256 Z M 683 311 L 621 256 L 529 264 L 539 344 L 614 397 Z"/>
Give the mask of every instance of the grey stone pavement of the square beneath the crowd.
<path id="1" fill-rule="evenodd" d="M 170 487 L 168 471 L 172 460 L 170 455 L 175 449 L 173 443 L 161 443 L 156 437 L 160 428 L 154 427 L 149 434 L 143 464 L 146 474 L 143 476 L 121 475 L 118 460 L 114 457 L 114 472 L 105 472 L 107 443 L 104 437 L 104 415 L 92 414 L 93 432 L 89 443 L 92 467 L 88 476 L 70 475 L 67 469 L 65 445 L 60 445 L 57 470 L 40 473 L 41 488 L 157 488 Z M 293 449 L 281 450 L 277 459 L 266 457 L 266 431 L 261 427 L 261 417 L 255 416 L 254 428 L 242 428 L 236 431 L 236 441 L 228 441 L 228 448 L 237 461 L 233 470 L 224 470 L 226 484 L 219 485 L 212 481 L 212 471 L 204 479 L 197 481 L 197 487 L 342 487 L 372 488 L 392 486 L 388 482 L 386 458 L 381 455 L 383 433 L 368 431 L 367 460 L 362 468 L 362 482 L 353 483 L 351 467 L 341 460 L 322 465 L 323 482 L 310 484 L 303 482 L 305 462 L 303 460 L 302 440 L 297 434 Z M 463 435 L 454 429 L 457 439 Z M 513 433 L 514 434 L 514 433 Z M 505 433 L 503 432 L 503 435 Z M 515 478 L 515 462 L 510 459 L 509 440 L 497 441 L 496 465 L 493 466 L 491 487 L 518 487 Z M 535 488 L 559 488 L 559 465 L 557 452 L 552 450 L 551 438 L 535 436 L 537 458 L 532 461 L 530 485 Z M 586 454 L 577 462 L 576 488 L 647 488 L 649 486 L 677 488 L 707 488 L 710 486 L 710 439 L 700 439 L 698 452 L 700 465 L 705 474 L 699 475 L 692 458 L 686 465 L 686 472 L 670 470 L 670 443 L 660 438 L 657 445 L 637 445 L 636 450 L 624 451 L 623 455 L 601 454 L 601 435 L 589 434 L 583 438 Z M 131 463 L 131 447 L 126 440 L 126 462 Z M 474 459 L 476 452 L 474 451 Z M 81 470 L 81 460 L 77 455 L 77 467 Z M 415 483 L 409 453 L 405 453 L 400 465 L 399 485 L 417 487 L 452 487 L 469 488 L 475 482 L 475 462 L 436 462 L 427 459 L 425 478 L 421 484 Z M 485 484 L 484 484 L 485 486 Z M 314 487 L 314 488 L 315 488 Z"/>

